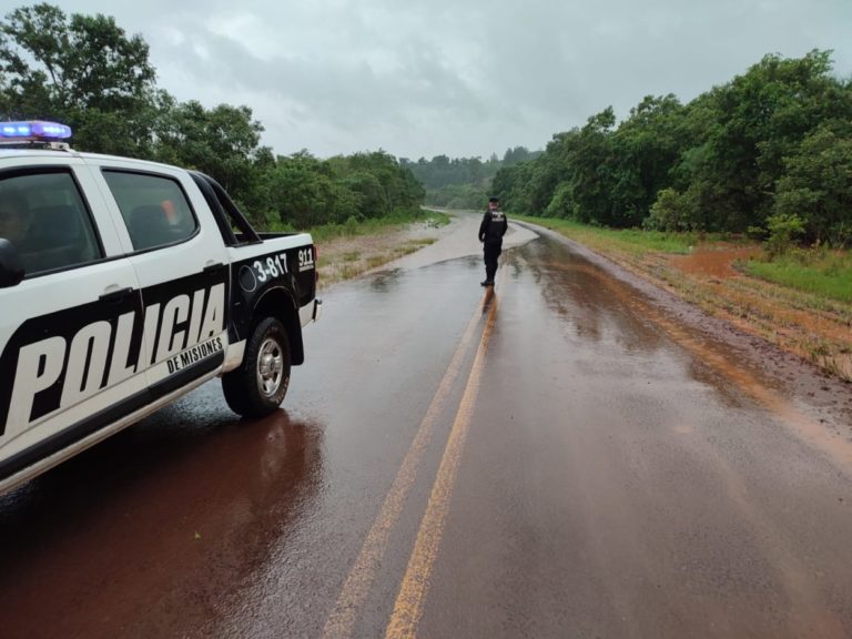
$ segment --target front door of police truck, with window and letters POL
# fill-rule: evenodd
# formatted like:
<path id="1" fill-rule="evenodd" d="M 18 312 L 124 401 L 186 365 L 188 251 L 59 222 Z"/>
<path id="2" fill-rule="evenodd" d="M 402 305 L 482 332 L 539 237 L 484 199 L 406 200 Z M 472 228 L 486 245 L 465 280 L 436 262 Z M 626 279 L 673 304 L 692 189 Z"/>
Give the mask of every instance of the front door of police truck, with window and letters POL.
<path id="1" fill-rule="evenodd" d="M 0 236 L 24 280 L 0 288 L 0 480 L 145 402 L 142 300 L 100 191 L 62 156 L 0 168 Z"/>

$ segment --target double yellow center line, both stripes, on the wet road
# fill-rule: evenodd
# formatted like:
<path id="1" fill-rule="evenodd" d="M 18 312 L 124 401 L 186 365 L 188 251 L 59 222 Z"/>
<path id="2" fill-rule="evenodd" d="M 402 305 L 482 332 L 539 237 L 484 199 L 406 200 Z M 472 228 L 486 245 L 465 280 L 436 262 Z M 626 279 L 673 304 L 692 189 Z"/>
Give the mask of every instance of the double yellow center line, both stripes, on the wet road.
<path id="1" fill-rule="evenodd" d="M 505 272 L 505 270 L 504 270 Z M 503 282 L 505 277 L 501 277 Z M 432 495 L 426 506 L 426 513 L 420 523 L 414 550 L 408 560 L 408 568 L 403 578 L 399 594 L 396 598 L 394 612 L 387 626 L 386 637 L 414 637 L 417 622 L 423 612 L 423 602 L 428 591 L 429 576 L 440 546 L 444 521 L 449 509 L 462 449 L 467 437 L 468 426 L 474 412 L 476 396 L 479 392 L 479 381 L 485 366 L 485 354 L 494 331 L 497 314 L 497 298 L 493 288 L 487 288 L 481 304 L 470 318 L 456 347 L 444 378 L 420 422 L 417 435 L 412 442 L 403 464 L 394 479 L 390 490 L 385 497 L 382 509 L 367 532 L 355 564 L 341 589 L 332 613 L 323 629 L 324 639 L 344 639 L 352 636 L 361 608 L 371 592 L 377 568 L 387 549 L 390 534 L 399 519 L 406 497 L 417 477 L 423 456 L 432 438 L 437 416 L 453 389 L 464 365 L 465 356 L 474 341 L 476 328 L 481 315 L 487 313 L 485 328 L 479 339 L 479 347 L 467 378 L 465 393 L 462 396 L 456 418 L 447 440 L 440 467 L 432 488 Z"/>

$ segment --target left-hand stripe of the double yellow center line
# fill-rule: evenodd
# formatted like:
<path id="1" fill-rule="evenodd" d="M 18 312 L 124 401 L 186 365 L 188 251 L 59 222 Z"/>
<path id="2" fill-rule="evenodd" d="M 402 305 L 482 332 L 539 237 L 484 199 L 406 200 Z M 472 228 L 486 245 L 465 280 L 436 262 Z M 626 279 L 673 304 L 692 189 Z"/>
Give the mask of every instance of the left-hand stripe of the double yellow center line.
<path id="1" fill-rule="evenodd" d="M 382 509 L 367 532 L 361 552 L 341 589 L 337 602 L 335 604 L 332 613 L 328 616 L 328 619 L 326 619 L 325 628 L 323 629 L 324 639 L 343 639 L 352 636 L 358 611 L 373 586 L 376 569 L 387 548 L 390 532 L 399 518 L 408 491 L 414 485 L 417 469 L 423 459 L 423 454 L 432 438 L 432 432 L 437 416 L 444 408 L 444 404 L 449 396 L 453 384 L 456 382 L 456 378 L 462 371 L 465 355 L 468 352 L 468 347 L 474 339 L 476 327 L 481 318 L 480 310 L 487 305 L 490 300 L 490 290 L 486 291 L 481 304 L 477 307 L 474 316 L 465 328 L 465 333 L 456 347 L 456 352 L 453 354 L 453 359 L 447 367 L 447 372 L 444 374 L 444 378 L 426 410 L 426 415 L 420 422 L 417 435 L 415 436 L 414 442 L 412 442 L 412 446 L 408 448 L 405 459 L 403 459 L 403 465 L 399 467 L 394 484 L 390 486 L 390 490 L 385 497 Z"/>

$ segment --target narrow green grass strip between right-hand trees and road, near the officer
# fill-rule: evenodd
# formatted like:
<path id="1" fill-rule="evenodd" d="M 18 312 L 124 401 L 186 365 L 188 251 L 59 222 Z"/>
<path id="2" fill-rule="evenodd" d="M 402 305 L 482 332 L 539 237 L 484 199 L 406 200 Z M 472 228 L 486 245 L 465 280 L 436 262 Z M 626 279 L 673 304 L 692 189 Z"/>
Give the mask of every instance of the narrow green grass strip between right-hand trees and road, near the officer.
<path id="1" fill-rule="evenodd" d="M 539 224 L 552 231 L 577 240 L 592 248 L 616 248 L 636 256 L 648 253 L 673 253 L 686 255 L 693 246 L 704 242 L 728 241 L 719 234 L 668 233 L 662 231 L 642 231 L 640 229 L 602 229 L 571 220 L 549 217 L 513 216 L 513 220 Z"/>

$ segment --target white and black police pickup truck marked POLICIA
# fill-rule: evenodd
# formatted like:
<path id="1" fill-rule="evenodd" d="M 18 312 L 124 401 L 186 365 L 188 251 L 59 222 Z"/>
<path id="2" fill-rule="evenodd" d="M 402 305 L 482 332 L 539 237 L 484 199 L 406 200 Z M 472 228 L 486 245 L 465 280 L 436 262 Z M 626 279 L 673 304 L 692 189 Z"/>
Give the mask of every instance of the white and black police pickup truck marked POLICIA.
<path id="1" fill-rule="evenodd" d="M 318 318 L 311 235 L 70 134 L 0 123 L 0 493 L 217 375 L 237 414 L 275 410 Z"/>

